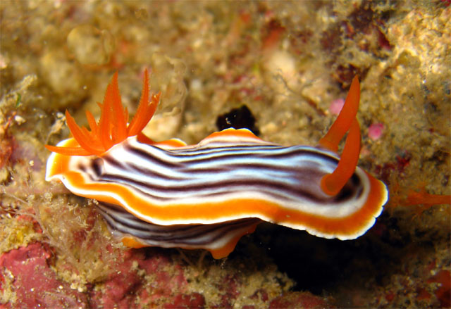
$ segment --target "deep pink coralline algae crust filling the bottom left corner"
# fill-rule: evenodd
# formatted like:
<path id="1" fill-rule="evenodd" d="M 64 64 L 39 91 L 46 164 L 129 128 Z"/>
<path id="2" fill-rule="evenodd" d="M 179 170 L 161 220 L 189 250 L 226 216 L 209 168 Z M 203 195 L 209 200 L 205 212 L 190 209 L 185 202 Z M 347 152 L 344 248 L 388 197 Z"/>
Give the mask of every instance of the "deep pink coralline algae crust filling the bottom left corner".
<path id="1" fill-rule="evenodd" d="M 49 249 L 39 243 L 0 256 L 0 291 L 9 295 L 7 308 L 87 308 L 84 294 L 57 279 L 47 261 Z"/>

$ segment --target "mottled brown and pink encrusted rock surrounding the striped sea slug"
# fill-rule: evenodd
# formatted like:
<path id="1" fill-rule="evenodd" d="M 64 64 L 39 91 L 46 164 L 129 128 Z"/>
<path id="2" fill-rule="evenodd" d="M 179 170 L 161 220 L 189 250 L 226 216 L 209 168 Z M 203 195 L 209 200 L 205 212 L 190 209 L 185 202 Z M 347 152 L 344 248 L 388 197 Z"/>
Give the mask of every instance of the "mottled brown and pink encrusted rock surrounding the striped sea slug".
<path id="1" fill-rule="evenodd" d="M 0 13 L 0 308 L 450 307 L 450 1 L 4 0 Z M 264 224 L 226 260 L 124 248 L 92 201 L 44 182 L 44 144 L 68 136 L 66 108 L 99 116 L 116 70 L 135 113 L 144 68 L 163 92 L 146 133 L 190 144 L 245 104 L 262 139 L 315 145 L 359 74 L 360 165 L 388 206 L 354 241 Z"/>

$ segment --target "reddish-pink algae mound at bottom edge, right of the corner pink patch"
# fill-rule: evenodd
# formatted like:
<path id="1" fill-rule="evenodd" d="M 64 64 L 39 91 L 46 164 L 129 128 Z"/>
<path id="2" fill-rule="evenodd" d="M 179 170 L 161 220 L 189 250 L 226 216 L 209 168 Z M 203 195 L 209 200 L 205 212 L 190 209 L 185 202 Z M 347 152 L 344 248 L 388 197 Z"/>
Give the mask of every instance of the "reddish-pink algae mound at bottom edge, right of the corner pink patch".
<path id="1" fill-rule="evenodd" d="M 125 251 L 124 262 L 107 278 L 101 289 L 90 294 L 92 308 L 184 308 L 191 296 L 185 296 L 187 281 L 183 269 L 170 258 L 152 251 Z M 140 299 L 139 303 L 136 302 Z M 194 306 L 195 307 L 195 306 Z"/>

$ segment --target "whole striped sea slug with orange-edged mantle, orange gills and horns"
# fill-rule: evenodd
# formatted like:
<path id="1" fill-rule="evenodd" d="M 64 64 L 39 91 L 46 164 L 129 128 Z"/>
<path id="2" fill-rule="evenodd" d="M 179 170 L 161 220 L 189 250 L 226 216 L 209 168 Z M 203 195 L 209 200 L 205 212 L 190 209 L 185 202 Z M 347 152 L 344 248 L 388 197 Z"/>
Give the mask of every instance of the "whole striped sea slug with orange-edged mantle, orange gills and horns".
<path id="1" fill-rule="evenodd" d="M 312 146 L 280 146 L 247 129 L 214 132 L 196 145 L 152 141 L 141 133 L 160 94 L 147 71 L 137 113 L 128 123 L 118 74 L 90 130 L 66 111 L 73 137 L 47 145 L 46 180 L 94 198 L 109 229 L 126 246 L 204 248 L 214 258 L 262 221 L 324 238 L 355 239 L 381 214 L 388 191 L 357 167 L 359 80 L 327 134 Z M 349 132 L 348 132 L 349 131 Z M 348 133 L 347 133 L 348 132 Z M 338 144 L 347 133 L 341 158 Z"/>

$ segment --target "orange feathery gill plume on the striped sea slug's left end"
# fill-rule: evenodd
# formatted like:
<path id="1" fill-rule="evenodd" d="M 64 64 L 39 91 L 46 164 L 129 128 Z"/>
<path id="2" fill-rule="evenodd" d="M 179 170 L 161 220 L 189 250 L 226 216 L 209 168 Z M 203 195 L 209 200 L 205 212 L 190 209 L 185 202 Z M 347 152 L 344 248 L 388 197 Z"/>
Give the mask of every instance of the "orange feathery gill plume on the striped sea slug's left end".
<path id="1" fill-rule="evenodd" d="M 94 120 L 92 113 L 86 111 L 90 130 L 78 126 L 74 118 L 66 111 L 66 122 L 79 146 L 58 147 L 46 145 L 46 148 L 49 151 L 65 156 L 99 156 L 128 137 L 140 134 L 154 115 L 159 100 L 160 93 L 152 94 L 152 97 L 149 99 L 149 77 L 147 70 L 145 70 L 140 105 L 137 108 L 135 117 L 128 124 L 128 111 L 121 102 L 118 73 L 116 72 L 111 84 L 106 87 L 104 103 L 98 103 L 101 108 L 99 122 Z"/>

